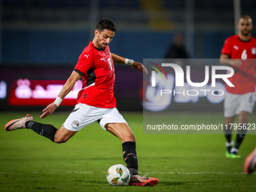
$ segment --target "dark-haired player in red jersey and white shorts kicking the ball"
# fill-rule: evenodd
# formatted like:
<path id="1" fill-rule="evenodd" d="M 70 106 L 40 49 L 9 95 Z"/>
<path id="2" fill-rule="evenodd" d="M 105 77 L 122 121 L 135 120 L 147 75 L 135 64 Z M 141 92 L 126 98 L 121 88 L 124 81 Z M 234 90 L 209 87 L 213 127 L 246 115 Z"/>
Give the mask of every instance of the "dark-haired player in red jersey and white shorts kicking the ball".
<path id="1" fill-rule="evenodd" d="M 131 173 L 129 184 L 154 186 L 158 183 L 157 178 L 141 177 L 138 173 L 136 138 L 126 120 L 117 111 L 114 98 L 114 62 L 128 64 L 133 66 L 133 69 L 142 72 L 147 72 L 147 70 L 140 62 L 125 59 L 110 52 L 108 44 L 114 38 L 115 32 L 116 29 L 111 20 L 107 18 L 99 20 L 93 41 L 90 41 L 79 56 L 74 71 L 60 90 L 55 102 L 44 108 L 41 118 L 52 114 L 62 99 L 72 90 L 75 82 L 83 78 L 83 87 L 78 93 L 77 105 L 59 130 L 53 125 L 33 121 L 29 114 L 20 119 L 11 120 L 6 124 L 5 130 L 31 129 L 53 142 L 63 143 L 84 126 L 98 121 L 104 130 L 122 141 L 123 160 Z"/>

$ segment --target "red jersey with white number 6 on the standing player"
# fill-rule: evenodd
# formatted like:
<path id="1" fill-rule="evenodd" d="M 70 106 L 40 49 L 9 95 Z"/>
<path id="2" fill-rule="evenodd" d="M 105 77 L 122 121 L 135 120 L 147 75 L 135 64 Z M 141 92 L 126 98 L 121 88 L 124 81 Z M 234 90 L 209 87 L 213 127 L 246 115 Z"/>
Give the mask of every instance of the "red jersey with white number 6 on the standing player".
<path id="1" fill-rule="evenodd" d="M 255 68 L 256 68 L 256 38 L 242 41 L 239 35 L 233 35 L 224 43 L 221 54 L 227 54 L 230 59 L 241 59 L 242 65 L 234 69 L 234 75 L 228 78 L 235 87 L 226 84 L 229 93 L 245 94 L 255 91 Z"/>

